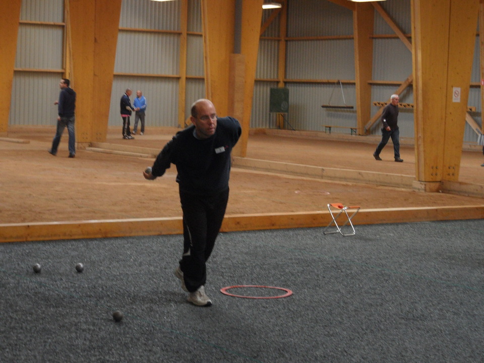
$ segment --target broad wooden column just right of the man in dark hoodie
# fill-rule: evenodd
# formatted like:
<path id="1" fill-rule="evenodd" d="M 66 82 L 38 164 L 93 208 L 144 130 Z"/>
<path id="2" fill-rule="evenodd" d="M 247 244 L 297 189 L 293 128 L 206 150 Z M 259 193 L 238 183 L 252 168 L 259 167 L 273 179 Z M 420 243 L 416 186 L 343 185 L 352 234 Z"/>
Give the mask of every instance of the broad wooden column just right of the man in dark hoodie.
<path id="1" fill-rule="evenodd" d="M 76 141 L 105 141 L 121 0 L 70 0 Z"/>

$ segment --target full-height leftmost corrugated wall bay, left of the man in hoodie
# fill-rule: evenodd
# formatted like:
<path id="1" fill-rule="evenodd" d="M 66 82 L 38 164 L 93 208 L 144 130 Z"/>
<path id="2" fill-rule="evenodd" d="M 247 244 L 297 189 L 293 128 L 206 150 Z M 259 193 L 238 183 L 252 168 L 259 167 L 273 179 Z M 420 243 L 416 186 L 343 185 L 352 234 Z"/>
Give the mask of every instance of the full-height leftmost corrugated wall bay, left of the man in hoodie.
<path id="1" fill-rule="evenodd" d="M 63 68 L 64 1 L 23 0 L 20 21 L 9 124 L 55 125 L 53 102 Z"/>

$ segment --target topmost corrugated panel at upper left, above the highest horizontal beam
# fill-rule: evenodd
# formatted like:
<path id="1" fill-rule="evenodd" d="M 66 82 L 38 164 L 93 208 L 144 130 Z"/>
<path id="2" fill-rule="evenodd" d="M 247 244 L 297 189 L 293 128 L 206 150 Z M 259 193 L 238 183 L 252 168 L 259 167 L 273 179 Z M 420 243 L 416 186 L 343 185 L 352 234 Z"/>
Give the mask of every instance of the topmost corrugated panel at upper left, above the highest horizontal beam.
<path id="1" fill-rule="evenodd" d="M 2 11 L 8 13 L 8 8 Z M 22 0 L 20 20 L 62 23 L 64 0 Z"/>

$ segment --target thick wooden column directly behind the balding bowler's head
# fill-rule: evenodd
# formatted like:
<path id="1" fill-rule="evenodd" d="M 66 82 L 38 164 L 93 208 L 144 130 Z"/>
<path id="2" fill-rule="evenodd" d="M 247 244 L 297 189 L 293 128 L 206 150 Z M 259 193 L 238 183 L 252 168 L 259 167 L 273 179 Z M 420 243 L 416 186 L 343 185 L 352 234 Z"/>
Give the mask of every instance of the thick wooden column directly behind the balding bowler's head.
<path id="1" fill-rule="evenodd" d="M 219 115 L 239 119 L 236 156 L 247 152 L 262 0 L 244 0 L 241 12 L 240 53 L 234 54 L 235 1 L 202 0 L 206 97 Z"/>

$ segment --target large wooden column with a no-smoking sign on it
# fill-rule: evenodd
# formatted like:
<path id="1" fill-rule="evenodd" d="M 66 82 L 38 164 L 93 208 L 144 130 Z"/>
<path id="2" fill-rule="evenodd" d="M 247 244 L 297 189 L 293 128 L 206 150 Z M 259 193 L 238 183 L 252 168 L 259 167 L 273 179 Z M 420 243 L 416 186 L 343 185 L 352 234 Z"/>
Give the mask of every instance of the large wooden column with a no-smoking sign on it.
<path id="1" fill-rule="evenodd" d="M 437 191 L 458 180 L 478 0 L 412 0 L 411 8 L 416 184 Z"/>

